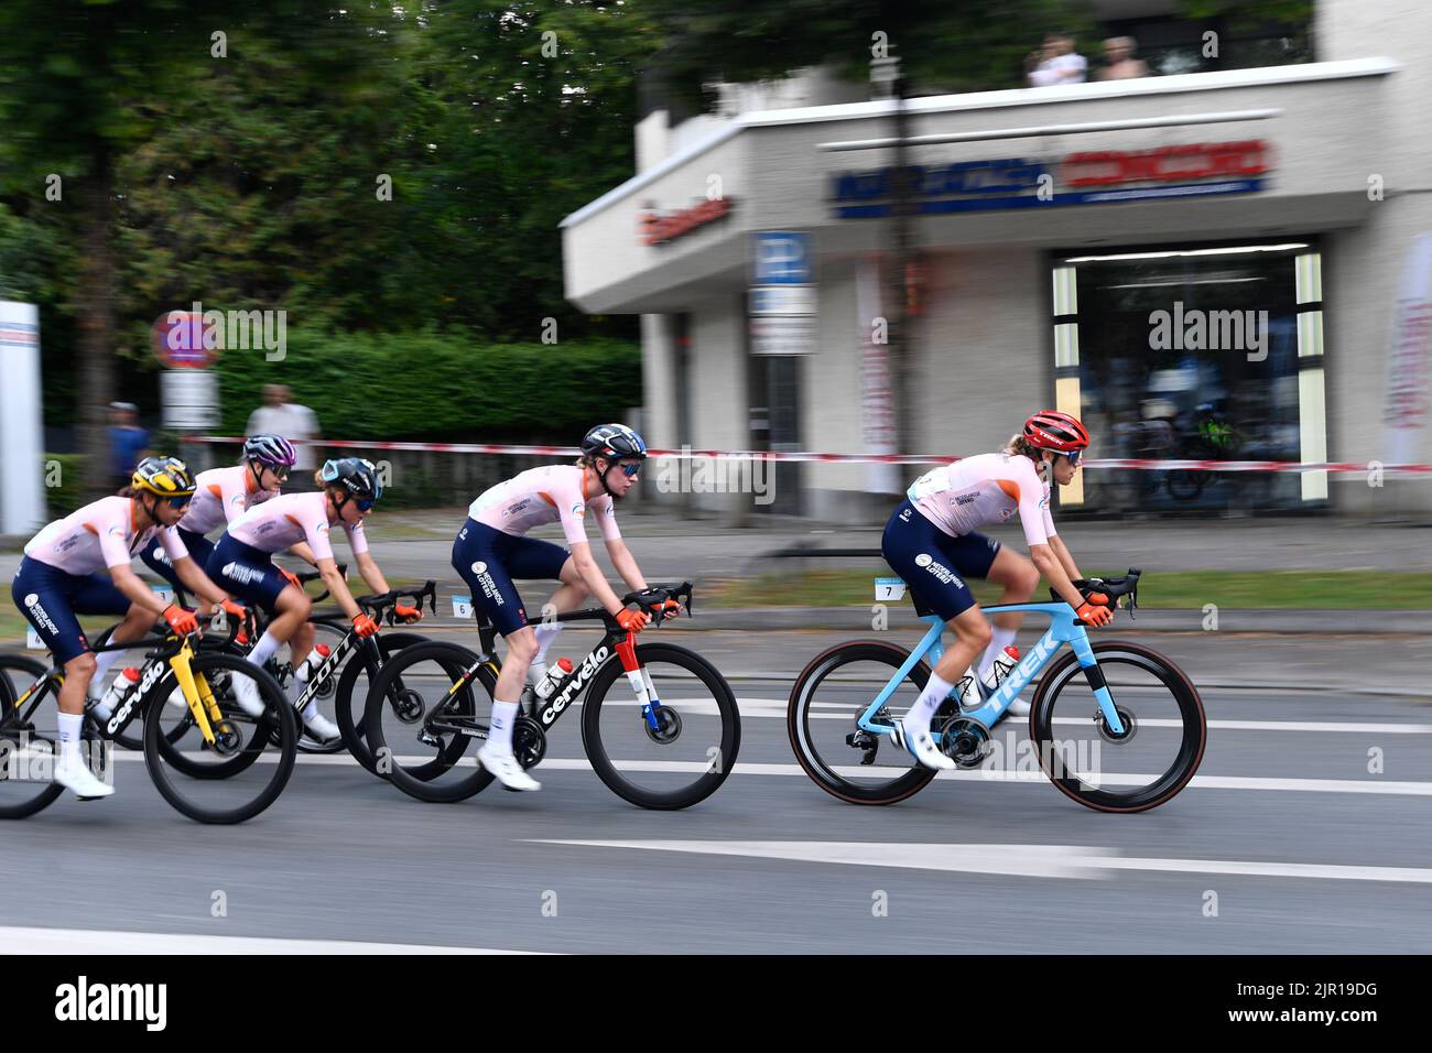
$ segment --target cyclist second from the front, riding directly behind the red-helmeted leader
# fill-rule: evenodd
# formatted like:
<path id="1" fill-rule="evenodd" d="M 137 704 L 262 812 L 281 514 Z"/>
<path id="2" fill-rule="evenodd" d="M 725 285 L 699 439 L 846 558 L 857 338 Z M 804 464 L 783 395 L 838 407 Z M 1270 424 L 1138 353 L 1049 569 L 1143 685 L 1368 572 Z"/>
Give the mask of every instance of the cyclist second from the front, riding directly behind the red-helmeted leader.
<path id="1" fill-rule="evenodd" d="M 523 681 L 537 682 L 546 673 L 547 649 L 563 628 L 554 622 L 533 629 L 513 579 L 561 582 L 551 597 L 556 610 L 574 610 L 591 596 L 623 629 L 640 632 L 650 615 L 621 605 L 591 557 L 584 523 L 587 513 L 597 520 L 611 566 L 627 587 L 646 589 L 642 569 L 617 530 L 614 504 L 636 484 L 644 461 L 646 443 L 636 431 L 624 424 L 600 424 L 581 440 L 577 464 L 530 468 L 484 491 L 453 542 L 453 567 L 473 590 L 473 606 L 507 639 L 507 658 L 493 692 L 491 729 L 477 758 L 510 789 L 541 788 L 513 756 L 513 722 Z M 544 523 L 561 523 L 567 549 L 526 536 Z"/>

